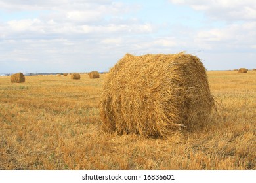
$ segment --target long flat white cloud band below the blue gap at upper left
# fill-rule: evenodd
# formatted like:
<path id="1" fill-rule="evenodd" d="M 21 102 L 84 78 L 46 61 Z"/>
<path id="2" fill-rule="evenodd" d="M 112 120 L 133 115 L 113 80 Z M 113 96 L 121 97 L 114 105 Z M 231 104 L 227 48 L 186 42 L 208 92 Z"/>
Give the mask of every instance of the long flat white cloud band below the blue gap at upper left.
<path id="1" fill-rule="evenodd" d="M 7 30 L 9 30 L 7 32 Z M 152 33 L 154 31 L 154 25 L 152 24 L 72 24 L 72 22 L 58 24 L 54 20 L 42 22 L 39 19 L 33 20 L 12 20 L 7 22 L 5 27 L 5 33 L 10 35 L 14 32 L 31 31 L 38 33 L 44 33 L 51 35 L 58 34 L 110 34 L 110 33 Z M 40 36 L 40 35 L 39 35 Z"/>

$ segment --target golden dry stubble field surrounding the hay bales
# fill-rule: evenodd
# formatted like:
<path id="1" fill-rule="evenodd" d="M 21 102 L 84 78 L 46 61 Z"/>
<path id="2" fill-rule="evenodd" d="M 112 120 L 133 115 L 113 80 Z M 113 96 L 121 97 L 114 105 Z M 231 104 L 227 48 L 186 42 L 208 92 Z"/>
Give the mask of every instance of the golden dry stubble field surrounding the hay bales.
<path id="1" fill-rule="evenodd" d="M 0 169 L 256 169 L 256 72 L 207 75 L 218 112 L 170 139 L 100 131 L 105 75 L 0 76 Z"/>

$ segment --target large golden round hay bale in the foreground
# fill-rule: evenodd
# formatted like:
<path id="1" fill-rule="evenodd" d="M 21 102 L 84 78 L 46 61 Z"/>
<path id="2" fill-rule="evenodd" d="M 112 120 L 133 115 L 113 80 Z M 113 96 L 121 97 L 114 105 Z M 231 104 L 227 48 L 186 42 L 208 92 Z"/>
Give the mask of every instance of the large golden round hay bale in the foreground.
<path id="1" fill-rule="evenodd" d="M 108 132 L 168 137 L 209 119 L 205 67 L 190 54 L 126 54 L 104 80 L 100 116 Z"/>

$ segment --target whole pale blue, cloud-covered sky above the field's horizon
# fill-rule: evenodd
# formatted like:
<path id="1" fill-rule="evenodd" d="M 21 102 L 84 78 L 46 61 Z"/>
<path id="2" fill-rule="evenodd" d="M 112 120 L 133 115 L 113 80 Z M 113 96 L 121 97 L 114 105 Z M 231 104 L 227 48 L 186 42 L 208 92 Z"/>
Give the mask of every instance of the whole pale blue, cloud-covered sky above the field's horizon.
<path id="1" fill-rule="evenodd" d="M 125 53 L 186 51 L 256 68 L 255 0 L 0 0 L 0 73 L 108 71 Z"/>

